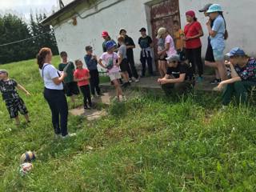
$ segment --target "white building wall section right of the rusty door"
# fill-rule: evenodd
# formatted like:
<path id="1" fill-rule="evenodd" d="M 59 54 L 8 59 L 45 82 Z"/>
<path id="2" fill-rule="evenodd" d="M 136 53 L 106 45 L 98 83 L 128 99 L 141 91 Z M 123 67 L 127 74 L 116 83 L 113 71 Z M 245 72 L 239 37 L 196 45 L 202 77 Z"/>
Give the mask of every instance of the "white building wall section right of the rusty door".
<path id="1" fill-rule="evenodd" d="M 240 46 L 246 53 L 256 56 L 256 25 L 254 24 L 254 18 L 256 16 L 256 2 L 255 0 L 180 0 L 180 13 L 182 26 L 186 25 L 185 14 L 187 10 L 195 10 L 198 21 L 201 22 L 205 36 L 202 38 L 202 54 L 205 55 L 207 44 L 207 18 L 198 10 L 207 3 L 218 3 L 222 5 L 224 10 L 224 17 L 226 18 L 227 30 L 229 32 L 229 38 L 226 41 L 226 52 L 234 46 Z"/>

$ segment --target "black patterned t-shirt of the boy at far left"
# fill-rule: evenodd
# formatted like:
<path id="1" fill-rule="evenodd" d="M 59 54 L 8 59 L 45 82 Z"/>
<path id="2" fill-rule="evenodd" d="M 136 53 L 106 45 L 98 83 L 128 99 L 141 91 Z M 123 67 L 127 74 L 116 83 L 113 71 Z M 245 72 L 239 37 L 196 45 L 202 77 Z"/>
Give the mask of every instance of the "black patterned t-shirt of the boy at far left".
<path id="1" fill-rule="evenodd" d="M 2 93 L 2 99 L 12 100 L 19 98 L 18 92 L 15 87 L 18 86 L 18 83 L 14 79 L 10 79 L 6 82 L 0 81 L 0 91 Z"/>

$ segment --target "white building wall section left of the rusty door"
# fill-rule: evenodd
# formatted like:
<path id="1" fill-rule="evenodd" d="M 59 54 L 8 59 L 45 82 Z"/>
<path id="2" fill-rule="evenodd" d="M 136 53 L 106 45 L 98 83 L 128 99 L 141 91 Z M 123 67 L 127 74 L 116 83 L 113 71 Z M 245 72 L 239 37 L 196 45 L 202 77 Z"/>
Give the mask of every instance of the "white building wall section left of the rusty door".
<path id="1" fill-rule="evenodd" d="M 104 1 L 98 5 L 97 9 L 100 10 L 102 7 L 114 2 L 117 1 Z M 94 47 L 94 53 L 100 56 L 102 54 L 103 42 L 101 37 L 102 30 L 107 30 L 110 37 L 116 40 L 119 29 L 125 28 L 127 34 L 134 39 L 134 43 L 136 44 L 134 58 L 135 62 L 139 63 L 140 49 L 138 48 L 138 38 L 140 37 L 140 33 L 138 30 L 142 26 L 147 29 L 144 2 L 147 1 L 125 0 L 86 19 L 77 18 L 77 26 L 73 26 L 69 20 L 60 23 L 58 26 L 54 26 L 59 51 L 66 50 L 69 58 L 74 61 L 77 58 L 83 59 L 85 46 L 91 45 Z M 80 14 L 86 16 L 95 11 L 95 9 L 83 10 Z"/>

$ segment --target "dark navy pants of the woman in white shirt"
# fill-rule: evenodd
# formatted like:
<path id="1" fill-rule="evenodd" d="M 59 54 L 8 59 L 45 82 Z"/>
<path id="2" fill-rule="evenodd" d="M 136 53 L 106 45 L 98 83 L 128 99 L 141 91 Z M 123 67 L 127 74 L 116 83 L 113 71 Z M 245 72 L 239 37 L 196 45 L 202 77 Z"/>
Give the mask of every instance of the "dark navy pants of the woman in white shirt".
<path id="1" fill-rule="evenodd" d="M 50 106 L 54 133 L 65 136 L 67 134 L 67 118 L 69 112 L 64 91 L 45 88 L 44 97 Z"/>

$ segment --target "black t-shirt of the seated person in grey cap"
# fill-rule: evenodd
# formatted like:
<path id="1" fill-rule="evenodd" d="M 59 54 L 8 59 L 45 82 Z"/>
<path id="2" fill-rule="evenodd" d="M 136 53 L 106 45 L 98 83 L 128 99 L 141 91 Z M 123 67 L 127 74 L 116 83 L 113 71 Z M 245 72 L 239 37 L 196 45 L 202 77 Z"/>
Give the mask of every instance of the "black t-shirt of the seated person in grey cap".
<path id="1" fill-rule="evenodd" d="M 178 64 L 177 67 L 168 67 L 166 74 L 179 78 L 180 74 L 186 74 L 185 80 L 191 80 L 193 77 L 192 69 L 186 64 Z"/>

